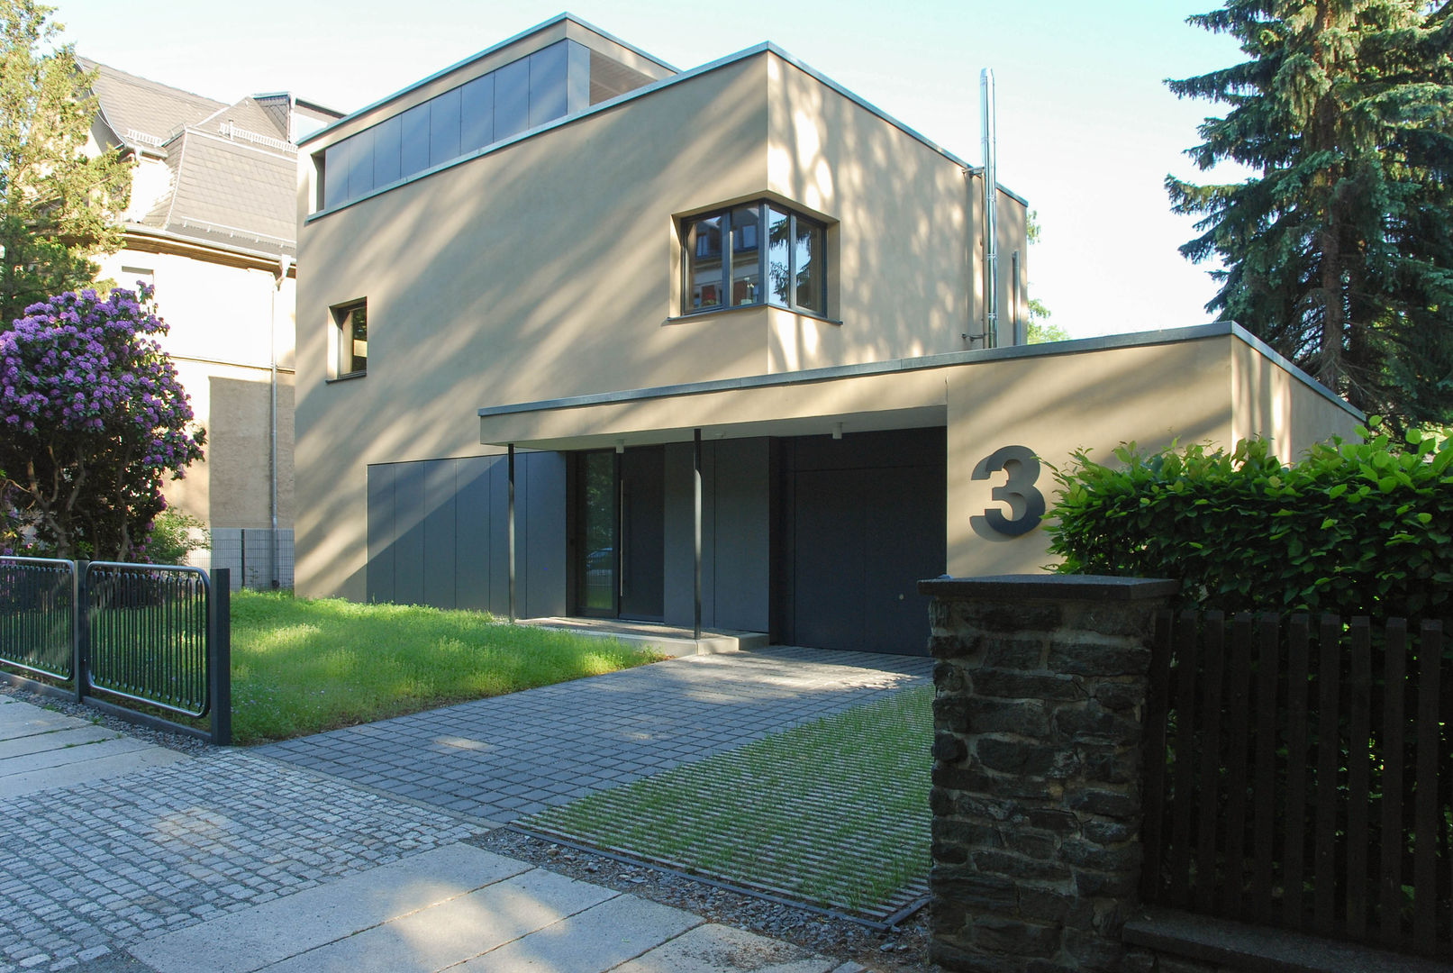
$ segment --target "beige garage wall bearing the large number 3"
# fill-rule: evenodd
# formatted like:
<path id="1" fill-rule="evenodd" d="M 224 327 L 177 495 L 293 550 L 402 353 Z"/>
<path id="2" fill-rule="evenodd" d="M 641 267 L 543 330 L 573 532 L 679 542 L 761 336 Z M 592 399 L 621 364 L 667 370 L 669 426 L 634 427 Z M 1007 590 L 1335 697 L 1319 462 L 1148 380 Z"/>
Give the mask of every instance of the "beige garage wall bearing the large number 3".
<path id="1" fill-rule="evenodd" d="M 1315 441 L 1350 434 L 1356 421 L 1237 334 L 960 369 L 949 380 L 949 574 L 1024 572 L 1051 563 L 1043 527 L 1014 539 L 975 530 L 975 516 L 1004 510 L 991 494 L 1007 473 L 972 478 L 979 460 L 1001 446 L 1027 446 L 1046 463 L 1068 468 L 1078 449 L 1114 462 L 1122 443 L 1231 447 L 1260 434 L 1293 460 Z M 1043 468 L 1035 485 L 1053 504 L 1053 471 Z"/>

